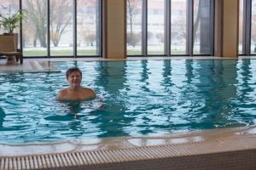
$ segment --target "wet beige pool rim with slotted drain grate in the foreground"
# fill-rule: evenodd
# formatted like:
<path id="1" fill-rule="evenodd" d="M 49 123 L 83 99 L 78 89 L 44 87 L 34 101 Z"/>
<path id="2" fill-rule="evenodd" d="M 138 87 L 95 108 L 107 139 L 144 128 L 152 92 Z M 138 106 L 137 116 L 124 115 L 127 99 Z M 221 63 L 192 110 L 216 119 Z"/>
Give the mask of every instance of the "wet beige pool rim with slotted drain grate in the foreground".
<path id="1" fill-rule="evenodd" d="M 210 156 L 211 160 L 211 156 L 231 154 L 234 158 L 241 153 L 249 154 L 247 158 L 251 159 L 256 156 L 256 127 L 50 144 L 0 144 L 0 150 L 0 169 L 62 169 L 92 165 L 101 165 L 105 169 L 104 166 L 120 162 L 139 164 L 140 161 L 172 161 L 177 158 L 186 159 L 188 156 L 193 159 Z M 233 161 L 237 161 L 233 158 Z M 256 162 L 252 165 L 256 167 Z"/>

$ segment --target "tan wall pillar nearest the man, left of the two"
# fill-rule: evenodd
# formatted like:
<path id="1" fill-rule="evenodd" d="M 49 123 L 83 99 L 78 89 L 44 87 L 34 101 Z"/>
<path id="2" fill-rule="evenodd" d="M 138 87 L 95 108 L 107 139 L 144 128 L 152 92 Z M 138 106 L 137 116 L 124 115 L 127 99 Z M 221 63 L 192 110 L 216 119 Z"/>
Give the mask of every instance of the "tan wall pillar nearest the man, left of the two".
<path id="1" fill-rule="evenodd" d="M 106 59 L 126 57 L 126 1 L 103 1 L 103 47 Z"/>

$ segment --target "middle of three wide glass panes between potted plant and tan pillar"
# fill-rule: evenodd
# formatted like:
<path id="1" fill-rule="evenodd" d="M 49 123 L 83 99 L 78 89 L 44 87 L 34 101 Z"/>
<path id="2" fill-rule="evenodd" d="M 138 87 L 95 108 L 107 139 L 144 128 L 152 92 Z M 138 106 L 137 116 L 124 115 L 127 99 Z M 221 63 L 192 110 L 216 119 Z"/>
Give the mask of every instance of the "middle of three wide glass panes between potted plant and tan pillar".
<path id="1" fill-rule="evenodd" d="M 73 55 L 73 0 L 49 1 L 50 54 Z"/>

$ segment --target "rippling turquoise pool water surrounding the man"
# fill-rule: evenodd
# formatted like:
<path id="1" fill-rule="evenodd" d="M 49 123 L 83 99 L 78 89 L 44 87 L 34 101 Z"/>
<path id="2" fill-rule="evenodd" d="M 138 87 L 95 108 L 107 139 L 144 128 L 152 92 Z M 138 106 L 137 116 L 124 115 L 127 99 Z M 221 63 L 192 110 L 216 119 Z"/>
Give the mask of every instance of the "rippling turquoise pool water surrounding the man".
<path id="1" fill-rule="evenodd" d="M 58 73 L 0 73 L 0 143 L 160 135 L 256 124 L 255 59 L 55 62 Z M 79 66 L 97 99 L 59 102 Z"/>

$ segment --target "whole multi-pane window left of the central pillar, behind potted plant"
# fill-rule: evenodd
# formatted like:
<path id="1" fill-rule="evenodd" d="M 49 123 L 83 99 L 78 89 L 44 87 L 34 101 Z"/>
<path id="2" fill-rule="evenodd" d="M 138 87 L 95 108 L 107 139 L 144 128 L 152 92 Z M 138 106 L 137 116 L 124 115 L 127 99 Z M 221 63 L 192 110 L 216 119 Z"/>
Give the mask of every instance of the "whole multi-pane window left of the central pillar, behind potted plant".
<path id="1" fill-rule="evenodd" d="M 17 12 L 20 8 L 19 2 L 0 0 L 1 14 L 8 16 Z M 21 2 L 26 14 L 22 20 L 24 56 L 100 55 L 100 0 L 23 0 Z M 2 26 L 0 33 L 4 32 L 7 30 Z M 15 32 L 20 33 L 20 29 L 16 28 Z"/>

